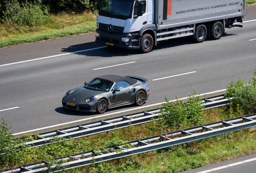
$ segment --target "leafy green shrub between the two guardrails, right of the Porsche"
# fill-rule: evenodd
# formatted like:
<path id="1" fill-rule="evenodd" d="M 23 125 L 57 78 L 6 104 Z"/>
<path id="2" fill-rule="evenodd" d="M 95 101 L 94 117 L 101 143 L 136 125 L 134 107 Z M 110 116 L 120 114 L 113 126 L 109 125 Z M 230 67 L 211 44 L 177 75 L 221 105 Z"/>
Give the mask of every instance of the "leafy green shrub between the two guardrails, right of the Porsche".
<path id="1" fill-rule="evenodd" d="M 195 95 L 195 93 L 194 93 Z M 200 98 L 194 95 L 188 98 L 188 102 L 177 99 L 176 102 L 169 102 L 165 98 L 163 104 L 164 109 L 161 109 L 161 123 L 166 127 L 175 129 L 197 126 L 204 123 L 203 117 L 205 114 L 201 111 L 204 106 L 200 103 Z"/>

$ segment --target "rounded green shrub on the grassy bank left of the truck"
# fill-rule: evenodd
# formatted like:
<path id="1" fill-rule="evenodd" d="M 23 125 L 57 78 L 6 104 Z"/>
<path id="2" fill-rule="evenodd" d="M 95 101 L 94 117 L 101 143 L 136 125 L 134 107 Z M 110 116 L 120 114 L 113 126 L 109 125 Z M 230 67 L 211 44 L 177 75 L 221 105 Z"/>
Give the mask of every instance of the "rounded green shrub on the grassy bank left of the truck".
<path id="1" fill-rule="evenodd" d="M 6 2 L 3 12 L 6 22 L 15 25 L 40 26 L 49 19 L 49 8 L 35 2 L 19 3 L 18 0 Z"/>

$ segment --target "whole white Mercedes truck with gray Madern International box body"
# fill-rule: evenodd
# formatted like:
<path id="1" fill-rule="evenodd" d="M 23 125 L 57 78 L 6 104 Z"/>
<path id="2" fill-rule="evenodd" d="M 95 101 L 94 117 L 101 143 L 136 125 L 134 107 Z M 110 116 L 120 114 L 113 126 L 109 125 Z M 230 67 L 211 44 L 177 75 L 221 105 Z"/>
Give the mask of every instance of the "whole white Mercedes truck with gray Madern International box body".
<path id="1" fill-rule="evenodd" d="M 241 22 L 246 0 L 98 0 L 95 42 L 151 51 L 162 40 L 221 38 Z"/>

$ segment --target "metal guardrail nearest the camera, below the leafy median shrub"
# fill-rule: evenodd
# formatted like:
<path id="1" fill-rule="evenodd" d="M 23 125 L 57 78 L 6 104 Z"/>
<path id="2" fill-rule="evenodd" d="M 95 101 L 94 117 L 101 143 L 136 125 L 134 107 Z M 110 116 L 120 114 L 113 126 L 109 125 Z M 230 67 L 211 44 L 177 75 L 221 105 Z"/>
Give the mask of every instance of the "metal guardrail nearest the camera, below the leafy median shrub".
<path id="1" fill-rule="evenodd" d="M 66 160 L 66 163 L 61 164 L 65 168 L 61 167 L 60 170 L 67 170 L 76 167 L 90 165 L 91 163 L 100 163 L 103 161 L 109 161 L 113 159 L 118 159 L 122 157 L 128 157 L 131 155 L 136 155 L 140 153 L 145 153 L 148 151 L 153 151 L 157 149 L 163 149 L 165 147 L 171 147 L 174 145 L 179 145 L 182 143 L 188 143 L 191 141 L 196 141 L 199 139 L 204 139 L 207 137 L 213 137 L 233 131 L 239 131 L 242 129 L 255 127 L 256 126 L 256 114 L 246 115 L 243 117 L 237 117 L 233 119 L 227 119 L 224 121 L 218 121 L 215 123 L 209 123 L 205 125 L 200 125 L 197 127 L 191 127 L 188 129 L 183 129 L 179 131 L 173 131 L 161 135 L 156 135 L 144 139 L 138 139 L 135 141 L 130 141 L 134 148 L 125 149 L 123 146 L 109 146 L 108 152 L 103 151 L 85 151 L 82 153 L 77 153 L 73 155 L 58 157 L 56 160 Z M 241 123 L 242 122 L 242 123 Z M 115 149 L 123 149 L 121 152 L 115 152 Z M 112 152 L 111 152 L 112 151 Z M 97 154 L 99 153 L 99 154 Z M 56 167 L 53 165 L 51 168 Z M 33 169 L 33 170 L 32 170 Z M 26 171 L 27 173 L 43 173 L 49 169 L 47 167 L 47 161 L 41 161 L 37 163 L 31 163 L 25 166 L 10 168 L 2 170 L 2 173 L 20 173 Z"/>

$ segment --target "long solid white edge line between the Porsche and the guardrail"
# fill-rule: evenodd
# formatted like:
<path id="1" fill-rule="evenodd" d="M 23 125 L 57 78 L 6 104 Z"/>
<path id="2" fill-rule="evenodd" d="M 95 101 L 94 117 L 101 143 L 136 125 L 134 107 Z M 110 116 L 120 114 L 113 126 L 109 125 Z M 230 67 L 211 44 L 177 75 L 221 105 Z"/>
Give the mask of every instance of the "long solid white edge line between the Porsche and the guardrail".
<path id="1" fill-rule="evenodd" d="M 222 92 L 222 91 L 226 91 L 226 89 L 222 89 L 222 90 L 218 90 L 218 91 L 213 91 L 213 92 L 209 92 L 209 93 L 204 93 L 204 94 L 200 94 L 200 95 L 196 95 L 196 96 L 203 96 L 203 95 L 208 95 L 208 94 L 213 94 L 213 93 L 219 93 L 219 92 Z M 185 99 L 188 99 L 188 97 L 184 97 L 184 98 L 181 98 L 181 99 L 178 99 L 178 100 L 185 100 Z M 174 102 L 174 101 L 176 101 L 176 100 L 172 100 L 172 101 L 170 101 L 170 102 Z M 134 110 L 136 110 L 136 109 L 143 109 L 143 108 L 147 108 L 147 107 L 153 107 L 153 106 L 157 106 L 157 105 L 162 105 L 163 103 L 166 103 L 166 102 L 155 103 L 155 104 L 153 104 L 153 105 L 147 105 L 147 106 L 142 106 L 142 107 L 136 107 L 136 108 L 133 108 L 133 109 L 128 109 L 128 110 L 119 111 L 119 112 L 115 112 L 115 113 L 109 113 L 109 114 L 99 115 L 99 116 L 96 116 L 96 117 L 90 117 L 90 118 L 81 119 L 81 120 L 76 120 L 76 121 L 70 121 L 70 122 L 62 123 L 62 124 L 58 124 L 58 125 L 52 125 L 52 126 L 48 126 L 48 127 L 42 127 L 42 128 L 39 128 L 39 129 L 33 129 L 33 130 L 29 130 L 29 131 L 14 133 L 14 134 L 12 134 L 12 135 L 20 135 L 20 134 L 30 133 L 30 132 L 33 132 L 33 131 L 40 131 L 40 130 L 49 129 L 49 128 L 52 128 L 52 127 L 58 127 L 58 126 L 68 125 L 68 124 L 70 124 L 70 123 L 78 123 L 78 122 L 81 122 L 81 121 L 86 121 L 86 120 L 90 120 L 90 119 L 96 119 L 96 118 L 105 117 L 105 116 L 109 116 L 109 115 L 114 115 L 114 114 L 118 114 L 118 113 L 124 113 L 124 112 L 134 111 Z"/>

